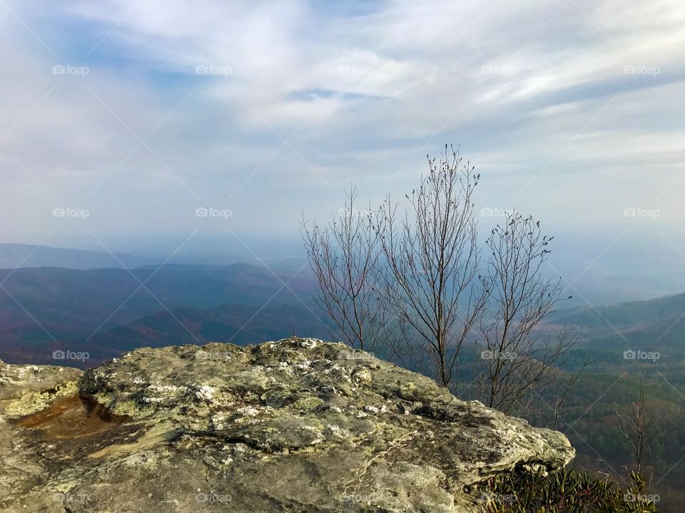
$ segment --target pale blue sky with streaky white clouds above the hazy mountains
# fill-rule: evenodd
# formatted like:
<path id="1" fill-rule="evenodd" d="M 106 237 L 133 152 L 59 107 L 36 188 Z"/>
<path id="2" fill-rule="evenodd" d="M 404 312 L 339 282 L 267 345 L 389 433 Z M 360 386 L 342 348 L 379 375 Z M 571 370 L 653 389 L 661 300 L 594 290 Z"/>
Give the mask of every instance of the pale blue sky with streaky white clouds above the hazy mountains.
<path id="1" fill-rule="evenodd" d="M 450 144 L 569 284 L 685 289 L 680 1 L 0 0 L 0 46 L 0 242 L 289 256 Z"/>

